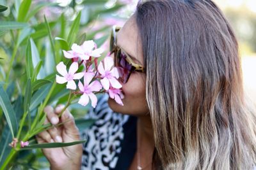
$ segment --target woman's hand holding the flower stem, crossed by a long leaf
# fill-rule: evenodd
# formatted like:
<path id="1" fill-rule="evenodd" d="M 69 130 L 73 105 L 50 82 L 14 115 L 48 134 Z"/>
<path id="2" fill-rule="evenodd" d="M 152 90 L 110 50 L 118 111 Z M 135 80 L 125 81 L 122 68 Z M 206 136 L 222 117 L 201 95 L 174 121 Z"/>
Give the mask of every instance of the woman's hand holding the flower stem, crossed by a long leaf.
<path id="1" fill-rule="evenodd" d="M 51 106 L 45 107 L 44 111 L 47 114 L 47 118 L 44 124 L 49 124 L 49 122 L 52 125 L 56 125 L 59 122 L 65 122 L 65 124 L 40 132 L 36 136 L 38 143 L 69 143 L 80 139 L 79 131 L 71 113 L 65 110 L 63 115 L 60 118 L 58 117 L 63 108 L 63 105 L 57 106 L 55 110 Z M 83 153 L 82 144 L 63 148 L 45 148 L 42 149 L 42 152 L 49 160 L 51 169 L 80 169 Z"/>

